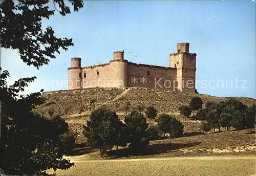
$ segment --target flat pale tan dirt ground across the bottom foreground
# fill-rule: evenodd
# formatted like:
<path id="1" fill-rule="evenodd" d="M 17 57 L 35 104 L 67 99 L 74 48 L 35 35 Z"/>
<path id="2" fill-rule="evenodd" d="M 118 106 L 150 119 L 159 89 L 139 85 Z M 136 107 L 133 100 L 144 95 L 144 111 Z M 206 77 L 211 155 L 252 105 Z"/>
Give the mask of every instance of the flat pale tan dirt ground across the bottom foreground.
<path id="1" fill-rule="evenodd" d="M 180 157 L 75 161 L 57 175 L 254 175 L 256 158 L 251 156 Z"/>

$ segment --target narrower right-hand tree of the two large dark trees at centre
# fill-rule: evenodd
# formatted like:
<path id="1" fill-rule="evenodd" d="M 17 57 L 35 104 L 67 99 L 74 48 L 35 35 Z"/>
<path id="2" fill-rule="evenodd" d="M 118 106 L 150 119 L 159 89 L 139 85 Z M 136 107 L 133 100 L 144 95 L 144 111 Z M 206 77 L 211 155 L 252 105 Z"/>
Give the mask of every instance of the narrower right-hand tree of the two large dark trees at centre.
<path id="1" fill-rule="evenodd" d="M 148 145 L 146 138 L 148 123 L 146 123 L 146 119 L 138 111 L 132 111 L 125 116 L 124 122 L 127 125 L 127 133 L 129 134 L 129 147 L 136 152 L 144 151 Z"/>

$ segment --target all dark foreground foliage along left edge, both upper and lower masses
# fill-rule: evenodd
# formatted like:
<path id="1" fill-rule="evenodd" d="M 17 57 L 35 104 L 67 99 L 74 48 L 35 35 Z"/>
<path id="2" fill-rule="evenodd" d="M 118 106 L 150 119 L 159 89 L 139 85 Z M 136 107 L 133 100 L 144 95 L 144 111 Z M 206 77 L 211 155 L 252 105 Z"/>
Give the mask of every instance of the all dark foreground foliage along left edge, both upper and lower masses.
<path id="1" fill-rule="evenodd" d="M 70 13 L 70 8 L 60 1 L 3 1 L 1 2 L 1 47 L 16 50 L 27 65 L 37 69 L 48 64 L 59 49 L 68 50 L 72 39 L 58 38 L 51 27 L 42 29 L 42 20 L 49 19 L 56 9 L 61 15 Z M 83 2 L 70 1 L 74 11 L 83 7 Z M 6 58 L 7 59 L 7 58 Z M 10 58 L 11 59 L 11 58 Z M 2 70 L 2 69 L 1 69 Z M 36 77 L 22 78 L 7 87 L 9 73 L 1 74 L 1 169 L 9 174 L 41 174 L 47 169 L 67 169 L 69 160 L 62 159 L 59 151 L 60 135 L 64 134 L 52 122 L 33 114 L 31 110 L 40 104 L 40 93 L 18 95 Z M 7 109 L 15 109 L 15 112 Z"/>

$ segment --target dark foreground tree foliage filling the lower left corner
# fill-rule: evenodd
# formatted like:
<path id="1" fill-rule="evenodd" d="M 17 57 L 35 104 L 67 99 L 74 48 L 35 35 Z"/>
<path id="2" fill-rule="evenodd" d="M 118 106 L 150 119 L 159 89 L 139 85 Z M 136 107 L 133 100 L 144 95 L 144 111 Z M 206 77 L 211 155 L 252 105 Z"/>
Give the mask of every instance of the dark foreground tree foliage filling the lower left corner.
<path id="1" fill-rule="evenodd" d="M 32 112 L 42 103 L 41 93 L 19 95 L 28 82 L 35 78 L 24 78 L 7 86 L 8 72 L 1 74 L 1 169 L 8 174 L 41 174 L 47 169 L 67 169 L 73 163 L 62 156 L 70 152 L 62 135 L 69 132 L 68 124 L 60 118 L 50 120 Z M 42 91 L 41 91 L 42 92 Z M 13 111 L 15 109 L 15 111 Z"/>

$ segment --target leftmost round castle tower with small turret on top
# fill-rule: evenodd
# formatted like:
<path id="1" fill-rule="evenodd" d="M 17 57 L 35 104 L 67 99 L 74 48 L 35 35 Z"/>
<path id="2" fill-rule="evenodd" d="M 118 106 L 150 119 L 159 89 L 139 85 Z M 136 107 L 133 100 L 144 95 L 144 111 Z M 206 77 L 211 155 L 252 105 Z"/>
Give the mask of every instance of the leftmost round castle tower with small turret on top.
<path id="1" fill-rule="evenodd" d="M 82 88 L 81 58 L 71 58 L 71 68 L 68 68 L 69 90 Z"/>

